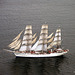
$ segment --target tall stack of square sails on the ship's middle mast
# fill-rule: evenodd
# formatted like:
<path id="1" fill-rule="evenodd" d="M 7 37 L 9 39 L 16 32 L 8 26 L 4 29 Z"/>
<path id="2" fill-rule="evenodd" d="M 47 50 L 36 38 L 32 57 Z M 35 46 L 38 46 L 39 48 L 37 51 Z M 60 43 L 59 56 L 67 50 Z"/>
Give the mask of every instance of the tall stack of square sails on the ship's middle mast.
<path id="1" fill-rule="evenodd" d="M 48 25 L 42 25 L 36 51 L 47 51 Z"/>

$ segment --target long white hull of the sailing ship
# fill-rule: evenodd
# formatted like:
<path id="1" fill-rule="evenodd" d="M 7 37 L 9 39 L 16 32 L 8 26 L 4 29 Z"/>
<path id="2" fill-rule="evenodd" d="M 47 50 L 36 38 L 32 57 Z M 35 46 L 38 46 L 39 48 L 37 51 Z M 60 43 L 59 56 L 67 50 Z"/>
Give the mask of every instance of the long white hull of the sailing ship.
<path id="1" fill-rule="evenodd" d="M 14 53 L 16 57 L 57 57 L 66 54 L 66 52 L 62 53 L 50 53 L 50 54 L 31 54 L 31 53 Z"/>

